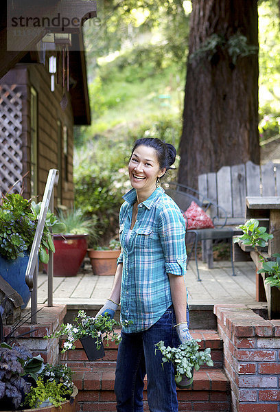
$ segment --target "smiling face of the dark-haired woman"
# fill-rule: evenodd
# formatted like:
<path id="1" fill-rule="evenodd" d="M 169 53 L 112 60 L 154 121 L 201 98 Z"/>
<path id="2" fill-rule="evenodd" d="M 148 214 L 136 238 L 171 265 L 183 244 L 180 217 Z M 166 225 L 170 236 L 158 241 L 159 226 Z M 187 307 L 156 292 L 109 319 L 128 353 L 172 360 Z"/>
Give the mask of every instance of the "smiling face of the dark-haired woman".
<path id="1" fill-rule="evenodd" d="M 156 150 L 149 146 L 138 146 L 132 153 L 128 163 L 128 173 L 132 187 L 140 192 L 153 192 L 156 188 L 156 179 L 163 176 L 165 169 L 161 169 L 156 156 Z"/>

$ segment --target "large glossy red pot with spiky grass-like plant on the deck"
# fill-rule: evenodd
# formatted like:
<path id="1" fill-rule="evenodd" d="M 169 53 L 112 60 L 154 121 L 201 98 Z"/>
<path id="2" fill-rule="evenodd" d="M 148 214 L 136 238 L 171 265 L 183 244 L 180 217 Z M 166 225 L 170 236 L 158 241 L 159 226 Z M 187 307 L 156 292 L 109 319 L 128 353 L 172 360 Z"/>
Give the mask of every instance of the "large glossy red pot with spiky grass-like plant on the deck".
<path id="1" fill-rule="evenodd" d="M 65 232 L 54 235 L 54 276 L 75 276 L 86 255 L 88 242 L 95 239 L 97 218 L 86 218 L 79 209 L 60 211 L 58 218 L 65 225 Z"/>

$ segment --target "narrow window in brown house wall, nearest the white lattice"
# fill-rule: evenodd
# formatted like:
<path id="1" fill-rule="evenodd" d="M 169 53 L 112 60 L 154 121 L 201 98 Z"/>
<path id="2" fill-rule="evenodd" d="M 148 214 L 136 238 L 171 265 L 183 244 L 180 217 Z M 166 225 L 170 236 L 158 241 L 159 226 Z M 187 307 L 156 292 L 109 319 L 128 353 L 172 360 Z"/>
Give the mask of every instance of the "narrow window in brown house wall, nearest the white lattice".
<path id="1" fill-rule="evenodd" d="M 38 96 L 34 87 L 30 88 L 30 165 L 31 196 L 38 194 Z"/>

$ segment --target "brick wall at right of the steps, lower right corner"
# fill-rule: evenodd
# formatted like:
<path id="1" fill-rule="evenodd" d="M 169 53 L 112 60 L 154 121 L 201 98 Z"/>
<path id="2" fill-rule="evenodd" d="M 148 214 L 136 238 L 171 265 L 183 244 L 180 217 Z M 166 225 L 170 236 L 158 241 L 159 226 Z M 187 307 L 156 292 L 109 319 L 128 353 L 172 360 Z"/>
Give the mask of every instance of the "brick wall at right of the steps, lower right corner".
<path id="1" fill-rule="evenodd" d="M 231 382 L 232 412 L 280 412 L 280 319 L 243 305 L 215 305 Z"/>

